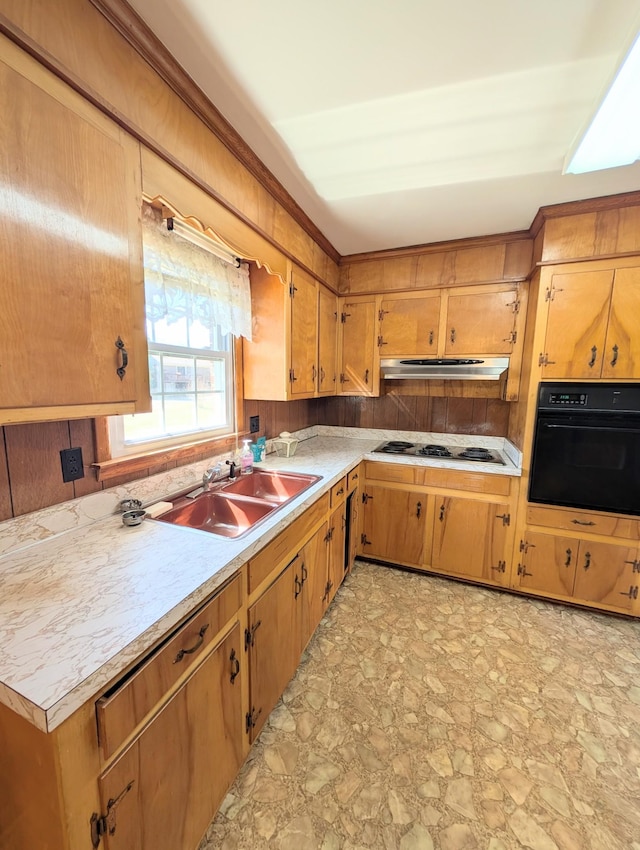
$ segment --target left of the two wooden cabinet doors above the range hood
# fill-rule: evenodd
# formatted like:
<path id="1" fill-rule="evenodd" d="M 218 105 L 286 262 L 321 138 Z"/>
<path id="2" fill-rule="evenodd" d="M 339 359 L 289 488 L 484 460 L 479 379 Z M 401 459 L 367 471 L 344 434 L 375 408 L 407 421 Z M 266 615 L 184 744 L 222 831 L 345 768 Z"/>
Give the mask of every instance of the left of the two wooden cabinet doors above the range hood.
<path id="1" fill-rule="evenodd" d="M 394 298 L 380 305 L 378 346 L 381 357 L 427 355 L 438 351 L 440 296 Z"/>

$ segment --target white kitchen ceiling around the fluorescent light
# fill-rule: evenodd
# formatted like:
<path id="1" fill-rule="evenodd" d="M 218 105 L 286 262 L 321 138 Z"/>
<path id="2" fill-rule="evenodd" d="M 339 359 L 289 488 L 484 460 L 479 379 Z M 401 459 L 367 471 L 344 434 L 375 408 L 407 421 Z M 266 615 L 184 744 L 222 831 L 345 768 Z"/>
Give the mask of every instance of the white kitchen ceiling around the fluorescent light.
<path id="1" fill-rule="evenodd" d="M 563 175 L 637 0 L 128 0 L 340 254 L 640 188 Z"/>

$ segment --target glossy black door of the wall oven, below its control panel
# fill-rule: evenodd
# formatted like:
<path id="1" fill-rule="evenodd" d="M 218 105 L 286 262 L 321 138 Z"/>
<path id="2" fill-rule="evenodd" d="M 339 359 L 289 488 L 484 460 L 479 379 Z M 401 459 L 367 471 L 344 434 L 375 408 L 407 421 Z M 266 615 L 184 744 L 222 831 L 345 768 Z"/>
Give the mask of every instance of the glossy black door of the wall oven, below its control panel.
<path id="1" fill-rule="evenodd" d="M 540 411 L 529 501 L 640 515 L 640 416 Z"/>

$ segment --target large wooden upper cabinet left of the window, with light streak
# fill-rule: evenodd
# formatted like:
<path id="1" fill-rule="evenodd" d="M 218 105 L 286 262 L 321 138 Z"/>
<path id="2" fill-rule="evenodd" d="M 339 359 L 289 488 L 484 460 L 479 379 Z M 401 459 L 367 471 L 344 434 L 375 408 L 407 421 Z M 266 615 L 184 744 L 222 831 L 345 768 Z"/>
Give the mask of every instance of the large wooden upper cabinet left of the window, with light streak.
<path id="1" fill-rule="evenodd" d="M 139 145 L 2 46 L 0 424 L 149 409 Z"/>

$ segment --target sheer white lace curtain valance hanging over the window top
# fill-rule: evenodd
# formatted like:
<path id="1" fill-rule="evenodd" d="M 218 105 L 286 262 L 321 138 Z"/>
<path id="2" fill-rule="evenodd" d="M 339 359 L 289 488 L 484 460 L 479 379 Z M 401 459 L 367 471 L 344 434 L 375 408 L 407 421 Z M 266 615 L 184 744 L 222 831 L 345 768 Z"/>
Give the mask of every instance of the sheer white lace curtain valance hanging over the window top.
<path id="1" fill-rule="evenodd" d="M 250 340 L 249 266 L 237 268 L 167 230 L 151 207 L 142 222 L 147 319 L 171 323 L 190 310 L 211 330 Z"/>

